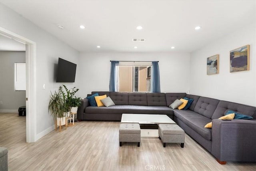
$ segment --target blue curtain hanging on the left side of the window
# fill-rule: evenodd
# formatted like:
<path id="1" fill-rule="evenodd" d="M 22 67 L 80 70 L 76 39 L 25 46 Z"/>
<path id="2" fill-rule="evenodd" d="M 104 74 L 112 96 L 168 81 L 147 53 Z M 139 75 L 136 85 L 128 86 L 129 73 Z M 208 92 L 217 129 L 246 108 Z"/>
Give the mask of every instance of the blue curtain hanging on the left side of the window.
<path id="1" fill-rule="evenodd" d="M 119 61 L 111 61 L 109 91 L 117 91 Z"/>

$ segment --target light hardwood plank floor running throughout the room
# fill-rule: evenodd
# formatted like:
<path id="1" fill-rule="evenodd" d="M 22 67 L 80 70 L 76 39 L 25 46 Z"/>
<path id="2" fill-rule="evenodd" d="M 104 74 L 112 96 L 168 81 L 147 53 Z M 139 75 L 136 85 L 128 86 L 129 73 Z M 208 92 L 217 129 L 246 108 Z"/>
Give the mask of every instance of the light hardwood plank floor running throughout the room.
<path id="1" fill-rule="evenodd" d="M 220 165 L 186 135 L 184 148 L 158 138 L 123 143 L 119 147 L 118 121 L 81 121 L 62 132 L 52 131 L 35 143 L 26 143 L 26 117 L 0 113 L 0 146 L 8 148 L 9 171 L 255 171 L 256 163 Z"/>

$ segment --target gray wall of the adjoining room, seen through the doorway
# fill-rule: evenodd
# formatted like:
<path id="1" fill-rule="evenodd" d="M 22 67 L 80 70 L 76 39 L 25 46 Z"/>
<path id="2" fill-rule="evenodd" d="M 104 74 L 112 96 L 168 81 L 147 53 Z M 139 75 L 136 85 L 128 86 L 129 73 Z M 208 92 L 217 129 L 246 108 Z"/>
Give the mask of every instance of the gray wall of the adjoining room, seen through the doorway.
<path id="1" fill-rule="evenodd" d="M 12 112 L 26 105 L 26 91 L 14 90 L 14 63 L 26 62 L 25 52 L 0 51 L 0 111 Z"/>

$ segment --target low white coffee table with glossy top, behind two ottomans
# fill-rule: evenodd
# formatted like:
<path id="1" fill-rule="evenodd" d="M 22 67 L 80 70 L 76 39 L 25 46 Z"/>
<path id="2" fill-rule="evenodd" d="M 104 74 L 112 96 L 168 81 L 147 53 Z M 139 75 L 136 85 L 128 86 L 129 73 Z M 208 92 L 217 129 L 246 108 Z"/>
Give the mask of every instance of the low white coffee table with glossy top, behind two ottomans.
<path id="1" fill-rule="evenodd" d="M 158 137 L 158 124 L 176 124 L 167 115 L 123 113 L 121 123 L 139 123 L 142 138 Z"/>

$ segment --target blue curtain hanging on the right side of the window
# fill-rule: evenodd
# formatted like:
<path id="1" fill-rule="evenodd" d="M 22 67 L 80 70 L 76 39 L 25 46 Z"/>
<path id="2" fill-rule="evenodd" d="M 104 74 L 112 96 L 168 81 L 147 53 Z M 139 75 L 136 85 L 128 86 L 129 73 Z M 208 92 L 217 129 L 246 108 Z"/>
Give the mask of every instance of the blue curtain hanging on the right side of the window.
<path id="1" fill-rule="evenodd" d="M 151 74 L 151 92 L 160 93 L 160 77 L 158 62 L 152 62 L 152 74 Z"/>

